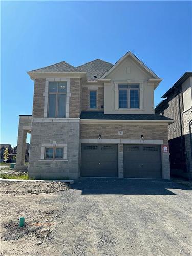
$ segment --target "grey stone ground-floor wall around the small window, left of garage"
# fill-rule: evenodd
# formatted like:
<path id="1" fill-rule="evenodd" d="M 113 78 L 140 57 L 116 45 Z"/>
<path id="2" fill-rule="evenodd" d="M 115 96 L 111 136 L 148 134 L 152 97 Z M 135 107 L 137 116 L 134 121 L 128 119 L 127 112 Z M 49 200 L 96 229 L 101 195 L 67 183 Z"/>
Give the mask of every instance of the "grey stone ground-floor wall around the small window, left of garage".
<path id="1" fill-rule="evenodd" d="M 41 144 L 67 144 L 68 161 L 40 160 Z M 40 160 L 40 161 L 39 161 Z M 33 121 L 29 156 L 29 176 L 35 179 L 76 179 L 79 162 L 79 123 Z"/>

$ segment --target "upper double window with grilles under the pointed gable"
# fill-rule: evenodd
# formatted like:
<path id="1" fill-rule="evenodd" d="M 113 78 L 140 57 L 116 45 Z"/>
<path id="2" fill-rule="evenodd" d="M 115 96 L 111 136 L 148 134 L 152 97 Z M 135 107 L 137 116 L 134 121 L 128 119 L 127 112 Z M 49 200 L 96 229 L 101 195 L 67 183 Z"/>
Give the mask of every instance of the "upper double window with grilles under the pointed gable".
<path id="1" fill-rule="evenodd" d="M 139 84 L 119 84 L 119 109 L 139 109 Z"/>

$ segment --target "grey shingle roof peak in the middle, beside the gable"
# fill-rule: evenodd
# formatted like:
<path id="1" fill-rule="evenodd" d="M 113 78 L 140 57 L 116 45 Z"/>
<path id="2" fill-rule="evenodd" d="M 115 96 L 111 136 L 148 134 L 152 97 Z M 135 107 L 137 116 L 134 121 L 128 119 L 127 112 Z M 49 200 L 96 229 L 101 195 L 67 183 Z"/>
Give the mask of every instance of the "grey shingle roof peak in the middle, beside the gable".
<path id="1" fill-rule="evenodd" d="M 79 71 L 87 72 L 88 81 L 96 81 L 97 78 L 100 78 L 102 75 L 104 75 L 109 69 L 111 69 L 111 67 L 113 67 L 113 64 L 101 59 L 95 59 L 76 68 Z M 94 76 L 97 76 L 97 78 Z"/>

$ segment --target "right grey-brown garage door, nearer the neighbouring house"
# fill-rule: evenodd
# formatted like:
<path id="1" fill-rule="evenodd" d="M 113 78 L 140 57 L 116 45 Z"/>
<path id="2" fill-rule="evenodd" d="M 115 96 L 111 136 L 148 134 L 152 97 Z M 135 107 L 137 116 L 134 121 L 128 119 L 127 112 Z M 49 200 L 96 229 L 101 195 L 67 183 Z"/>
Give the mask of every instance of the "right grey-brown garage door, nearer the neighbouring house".
<path id="1" fill-rule="evenodd" d="M 123 145 L 125 178 L 162 178 L 159 145 Z"/>

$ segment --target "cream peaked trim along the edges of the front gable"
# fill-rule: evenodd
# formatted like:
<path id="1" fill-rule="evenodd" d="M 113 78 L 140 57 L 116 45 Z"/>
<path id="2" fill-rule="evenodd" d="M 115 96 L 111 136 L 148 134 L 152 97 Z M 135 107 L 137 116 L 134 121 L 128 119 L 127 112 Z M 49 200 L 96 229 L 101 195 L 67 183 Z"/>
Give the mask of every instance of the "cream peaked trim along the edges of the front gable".
<path id="1" fill-rule="evenodd" d="M 151 69 L 147 68 L 147 66 L 144 65 L 143 62 L 141 62 L 133 53 L 130 51 L 127 52 L 122 58 L 120 58 L 113 67 L 111 67 L 108 72 L 106 72 L 103 76 L 100 77 L 100 79 L 105 78 L 107 75 L 109 75 L 126 57 L 131 56 L 144 70 L 146 70 L 148 73 L 150 73 L 152 76 L 154 76 L 156 79 L 160 79 Z"/>

